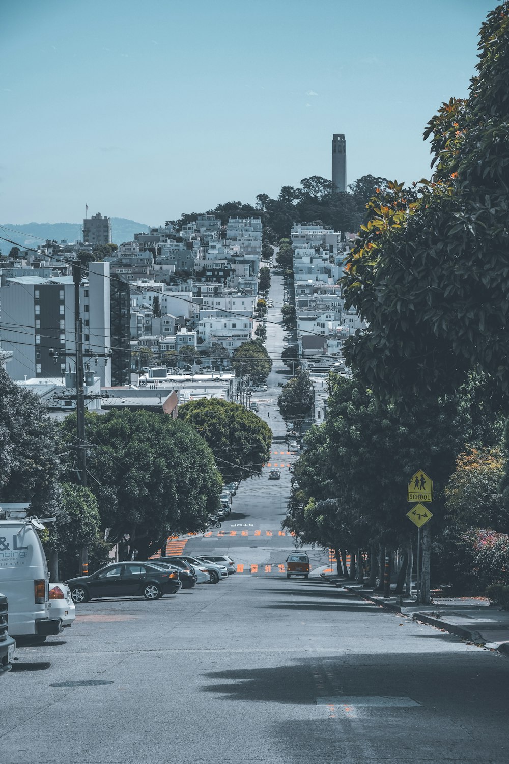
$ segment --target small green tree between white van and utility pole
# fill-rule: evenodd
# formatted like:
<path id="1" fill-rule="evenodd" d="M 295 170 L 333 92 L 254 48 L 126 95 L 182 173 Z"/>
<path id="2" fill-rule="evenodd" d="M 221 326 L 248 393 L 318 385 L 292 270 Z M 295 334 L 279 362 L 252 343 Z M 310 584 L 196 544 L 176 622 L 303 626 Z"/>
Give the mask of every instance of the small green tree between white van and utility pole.
<path id="1" fill-rule="evenodd" d="M 58 554 L 60 576 L 56 581 L 79 575 L 79 554 L 83 546 L 89 549 L 91 571 L 95 569 L 95 560 L 97 566 L 107 562 L 109 549 L 101 533 L 101 517 L 92 491 L 72 483 L 63 483 L 60 488 L 60 513 L 56 523 L 49 527 L 44 544 L 49 557 L 52 552 Z"/>

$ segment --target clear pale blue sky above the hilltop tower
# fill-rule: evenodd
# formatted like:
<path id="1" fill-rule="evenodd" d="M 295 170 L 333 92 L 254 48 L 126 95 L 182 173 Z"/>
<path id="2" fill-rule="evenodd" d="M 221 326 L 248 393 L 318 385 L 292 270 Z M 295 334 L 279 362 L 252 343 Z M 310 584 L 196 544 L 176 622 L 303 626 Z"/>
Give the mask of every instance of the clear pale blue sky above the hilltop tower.
<path id="1" fill-rule="evenodd" d="M 0 0 L 0 222 L 150 225 L 330 177 L 430 175 L 496 0 Z"/>

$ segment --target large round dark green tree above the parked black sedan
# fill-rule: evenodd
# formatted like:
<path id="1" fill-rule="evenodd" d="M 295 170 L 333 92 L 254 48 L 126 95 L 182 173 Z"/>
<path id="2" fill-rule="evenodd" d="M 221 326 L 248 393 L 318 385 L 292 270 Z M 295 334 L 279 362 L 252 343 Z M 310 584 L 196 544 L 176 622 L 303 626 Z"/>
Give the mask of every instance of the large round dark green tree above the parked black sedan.
<path id="1" fill-rule="evenodd" d="M 63 435 L 71 442 L 76 416 Z M 168 536 L 204 529 L 217 510 L 222 480 L 211 449 L 179 420 L 149 411 L 87 413 L 90 490 L 98 502 L 101 529 L 121 555 L 147 559 Z"/>

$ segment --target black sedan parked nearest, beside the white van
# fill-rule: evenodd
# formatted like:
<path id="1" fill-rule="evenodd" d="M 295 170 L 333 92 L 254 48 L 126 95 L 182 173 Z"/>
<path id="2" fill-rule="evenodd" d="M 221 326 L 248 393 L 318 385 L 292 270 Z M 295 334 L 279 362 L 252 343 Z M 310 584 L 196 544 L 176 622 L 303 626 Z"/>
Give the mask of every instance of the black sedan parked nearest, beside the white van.
<path id="1" fill-rule="evenodd" d="M 91 575 L 65 581 L 76 604 L 95 597 L 136 597 L 159 600 L 163 594 L 176 594 L 182 584 L 176 571 L 165 571 L 147 562 L 113 562 Z"/>

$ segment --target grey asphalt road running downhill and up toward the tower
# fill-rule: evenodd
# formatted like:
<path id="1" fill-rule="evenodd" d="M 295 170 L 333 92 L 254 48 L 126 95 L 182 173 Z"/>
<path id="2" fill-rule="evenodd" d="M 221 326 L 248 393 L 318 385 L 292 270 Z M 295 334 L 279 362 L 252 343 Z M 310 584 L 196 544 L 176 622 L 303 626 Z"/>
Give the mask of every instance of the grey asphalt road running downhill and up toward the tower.
<path id="1" fill-rule="evenodd" d="M 272 390 L 260 414 L 277 437 Z M 92 601 L 63 635 L 17 650 L 2 764 L 507 764 L 509 660 L 319 576 L 287 580 L 288 468 L 280 481 L 268 469 L 221 533 L 180 540 L 230 552 L 242 573 L 156 602 Z M 327 560 L 312 554 L 316 573 Z"/>

